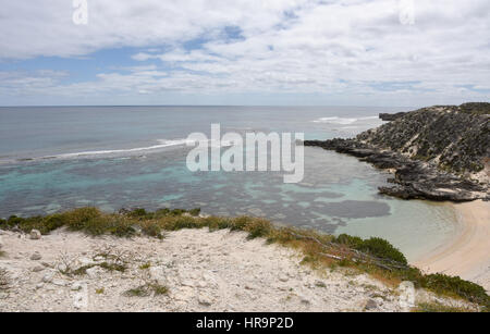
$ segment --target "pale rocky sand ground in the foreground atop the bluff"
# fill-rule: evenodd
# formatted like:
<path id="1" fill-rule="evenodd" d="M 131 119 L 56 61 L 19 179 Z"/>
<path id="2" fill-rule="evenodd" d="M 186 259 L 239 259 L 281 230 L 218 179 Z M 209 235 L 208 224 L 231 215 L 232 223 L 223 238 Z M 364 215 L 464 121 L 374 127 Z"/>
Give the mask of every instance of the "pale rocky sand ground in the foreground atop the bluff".
<path id="1" fill-rule="evenodd" d="M 40 240 L 2 234 L 7 256 L 0 258 L 0 269 L 9 272 L 12 284 L 0 290 L 0 311 L 406 310 L 397 290 L 379 281 L 339 269 L 313 271 L 301 264 L 297 251 L 247 240 L 245 233 L 184 230 L 163 240 L 90 238 L 63 231 Z M 73 269 L 98 263 L 94 256 L 101 249 L 121 256 L 126 272 L 95 267 L 70 277 L 56 270 L 63 263 Z M 36 251 L 42 259 L 30 259 Z M 147 262 L 150 268 L 142 268 Z M 124 296 L 148 282 L 167 286 L 169 294 Z M 416 295 L 417 300 L 436 298 L 420 290 Z"/>

